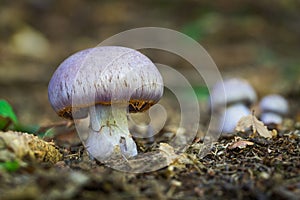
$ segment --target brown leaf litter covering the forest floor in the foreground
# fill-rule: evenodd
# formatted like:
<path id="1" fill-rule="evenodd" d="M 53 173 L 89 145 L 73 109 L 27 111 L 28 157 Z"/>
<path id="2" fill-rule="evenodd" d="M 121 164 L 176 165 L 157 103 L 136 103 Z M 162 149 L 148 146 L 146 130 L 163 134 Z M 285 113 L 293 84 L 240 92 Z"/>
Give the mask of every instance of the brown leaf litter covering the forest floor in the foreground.
<path id="1" fill-rule="evenodd" d="M 148 152 L 149 157 L 120 163 L 124 169 L 140 170 L 147 169 L 145 166 L 153 158 L 157 158 L 154 165 L 169 164 L 142 174 L 113 170 L 90 160 L 85 151 L 71 159 L 68 155 L 83 149 L 76 143 L 60 149 L 64 160 L 54 167 L 34 165 L 33 174 L 20 169 L 2 175 L 0 193 L 8 199 L 16 194 L 32 199 L 296 199 L 300 195 L 299 143 L 298 130 L 279 130 L 272 138 L 238 132 L 234 137 L 219 138 L 209 153 L 199 158 L 201 141 L 194 142 L 179 156 L 168 143 L 160 142 L 154 145 L 156 152 Z M 18 177 L 25 177 L 31 184 L 24 188 Z"/>

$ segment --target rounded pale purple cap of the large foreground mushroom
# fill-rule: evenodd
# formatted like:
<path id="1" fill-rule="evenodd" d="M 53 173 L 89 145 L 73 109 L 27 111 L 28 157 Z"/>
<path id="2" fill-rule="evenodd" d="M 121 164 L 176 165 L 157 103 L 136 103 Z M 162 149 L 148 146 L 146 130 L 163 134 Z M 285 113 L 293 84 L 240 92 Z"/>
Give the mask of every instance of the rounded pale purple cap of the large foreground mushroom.
<path id="1" fill-rule="evenodd" d="M 48 86 L 53 109 L 71 119 L 85 117 L 87 108 L 96 104 L 126 102 L 129 112 L 144 111 L 162 94 L 163 80 L 151 60 L 136 50 L 118 46 L 95 47 L 71 55 L 60 64 Z"/>

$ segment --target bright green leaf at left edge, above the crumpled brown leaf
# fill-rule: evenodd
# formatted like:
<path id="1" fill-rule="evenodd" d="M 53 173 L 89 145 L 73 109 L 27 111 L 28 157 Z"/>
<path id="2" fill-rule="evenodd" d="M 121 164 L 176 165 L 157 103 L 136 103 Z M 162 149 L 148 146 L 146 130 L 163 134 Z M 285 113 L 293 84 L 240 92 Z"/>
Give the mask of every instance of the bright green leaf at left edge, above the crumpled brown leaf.
<path id="1" fill-rule="evenodd" d="M 0 99 L 0 130 L 6 128 L 11 122 L 18 123 L 16 114 L 7 101 Z"/>

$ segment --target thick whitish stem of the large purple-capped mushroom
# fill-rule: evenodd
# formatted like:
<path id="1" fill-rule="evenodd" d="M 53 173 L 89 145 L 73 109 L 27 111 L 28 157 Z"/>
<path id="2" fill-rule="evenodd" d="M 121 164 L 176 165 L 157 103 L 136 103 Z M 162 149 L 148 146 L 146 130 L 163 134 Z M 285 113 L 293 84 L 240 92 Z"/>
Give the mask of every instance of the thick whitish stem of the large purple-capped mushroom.
<path id="1" fill-rule="evenodd" d="M 137 147 L 128 130 L 127 106 L 95 105 L 89 108 L 87 151 L 103 161 L 120 152 L 126 158 L 137 155 Z M 118 151 L 119 147 L 119 151 Z"/>

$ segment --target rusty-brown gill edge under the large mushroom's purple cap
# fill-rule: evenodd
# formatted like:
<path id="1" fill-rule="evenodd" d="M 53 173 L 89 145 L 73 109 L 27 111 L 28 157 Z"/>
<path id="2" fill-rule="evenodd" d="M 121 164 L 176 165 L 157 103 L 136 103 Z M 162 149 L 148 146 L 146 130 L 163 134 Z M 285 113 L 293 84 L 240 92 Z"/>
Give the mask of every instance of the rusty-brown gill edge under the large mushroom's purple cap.
<path id="1" fill-rule="evenodd" d="M 124 102 L 114 102 L 113 104 L 117 105 L 117 104 L 123 104 L 123 103 Z M 129 112 L 130 113 L 144 112 L 156 103 L 157 103 L 157 101 L 153 101 L 153 100 L 130 100 L 128 102 Z M 77 112 L 82 108 L 87 108 L 87 107 L 94 106 L 97 104 L 110 106 L 110 105 L 112 105 L 112 102 L 99 101 L 94 104 L 87 104 L 87 105 L 80 105 L 80 106 L 73 106 L 73 107 L 68 106 L 63 109 L 60 109 L 58 111 L 58 115 L 60 117 L 66 118 L 66 119 L 73 119 L 72 112 Z"/>

